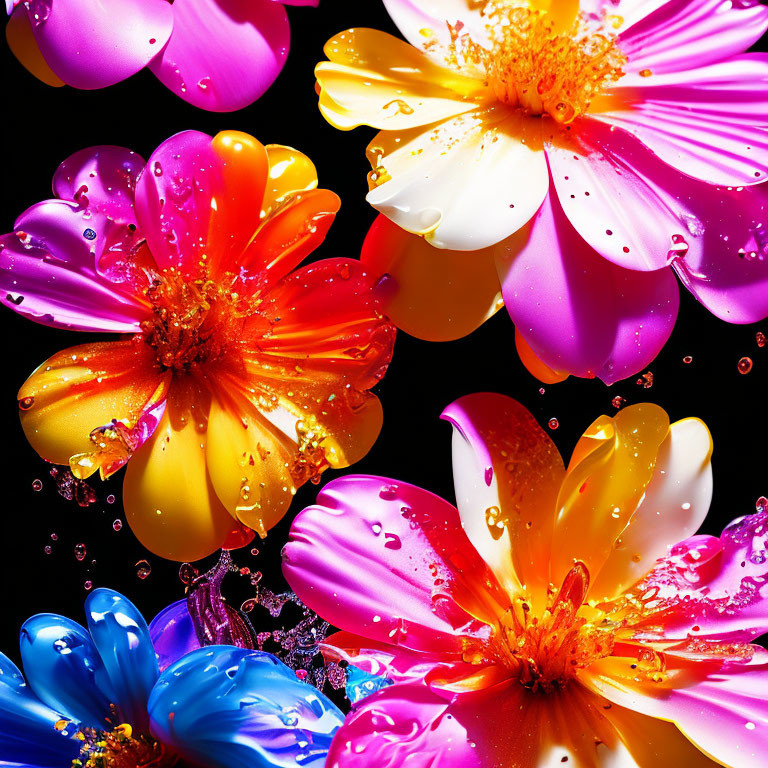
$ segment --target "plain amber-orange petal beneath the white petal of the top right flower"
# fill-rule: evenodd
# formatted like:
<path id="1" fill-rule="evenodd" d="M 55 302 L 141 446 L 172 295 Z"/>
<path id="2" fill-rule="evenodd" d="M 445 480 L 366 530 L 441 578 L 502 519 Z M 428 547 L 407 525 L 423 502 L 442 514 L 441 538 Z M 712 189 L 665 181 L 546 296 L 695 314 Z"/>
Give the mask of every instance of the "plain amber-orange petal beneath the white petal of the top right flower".
<path id="1" fill-rule="evenodd" d="M 361 260 L 374 278 L 386 275 L 379 284 L 384 312 L 419 339 L 459 339 L 503 306 L 490 248 L 434 248 L 380 215 L 365 239 Z"/>

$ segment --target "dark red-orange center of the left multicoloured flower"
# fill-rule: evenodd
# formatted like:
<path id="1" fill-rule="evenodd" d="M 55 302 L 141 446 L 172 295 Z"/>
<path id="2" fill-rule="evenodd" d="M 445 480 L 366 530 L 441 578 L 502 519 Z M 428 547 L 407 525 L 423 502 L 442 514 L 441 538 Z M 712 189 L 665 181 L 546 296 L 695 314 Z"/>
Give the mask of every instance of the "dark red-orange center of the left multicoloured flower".
<path id="1" fill-rule="evenodd" d="M 172 270 L 145 290 L 153 317 L 142 324 L 163 370 L 189 372 L 221 358 L 237 341 L 247 312 L 237 293 L 211 280 L 185 281 Z"/>

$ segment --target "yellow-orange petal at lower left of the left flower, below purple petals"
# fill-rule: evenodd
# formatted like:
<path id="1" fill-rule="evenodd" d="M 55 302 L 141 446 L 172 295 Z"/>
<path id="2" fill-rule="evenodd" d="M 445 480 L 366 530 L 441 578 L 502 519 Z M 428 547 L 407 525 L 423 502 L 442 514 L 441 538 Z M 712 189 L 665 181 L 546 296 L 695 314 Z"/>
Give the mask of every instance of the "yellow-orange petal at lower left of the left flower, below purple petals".
<path id="1" fill-rule="evenodd" d="M 83 344 L 55 354 L 19 390 L 21 426 L 47 461 L 67 464 L 94 450 L 97 427 L 135 424 L 162 376 L 140 341 Z"/>

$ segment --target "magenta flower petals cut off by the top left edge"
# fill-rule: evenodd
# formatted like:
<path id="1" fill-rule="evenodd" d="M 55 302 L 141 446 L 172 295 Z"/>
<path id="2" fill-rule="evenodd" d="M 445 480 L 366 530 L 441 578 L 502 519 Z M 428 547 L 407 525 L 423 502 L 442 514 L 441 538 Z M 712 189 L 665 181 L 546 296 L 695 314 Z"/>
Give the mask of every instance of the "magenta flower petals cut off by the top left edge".
<path id="1" fill-rule="evenodd" d="M 319 0 L 6 0 L 11 49 L 50 85 L 93 89 L 149 67 L 177 96 L 232 112 L 285 64 L 285 5 Z"/>

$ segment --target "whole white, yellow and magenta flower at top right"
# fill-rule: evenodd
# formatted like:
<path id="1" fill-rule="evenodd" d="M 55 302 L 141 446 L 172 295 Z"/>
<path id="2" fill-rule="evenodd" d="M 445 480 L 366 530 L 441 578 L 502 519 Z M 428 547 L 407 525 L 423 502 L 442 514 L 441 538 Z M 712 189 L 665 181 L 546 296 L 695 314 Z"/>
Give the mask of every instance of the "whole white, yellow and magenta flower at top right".
<path id="1" fill-rule="evenodd" d="M 724 320 L 768 314 L 768 56 L 744 53 L 768 8 L 385 5 L 410 45 L 348 30 L 316 74 L 331 124 L 380 129 L 368 200 L 405 232 L 366 260 L 396 324 L 457 338 L 501 290 L 535 373 L 611 383 L 669 337 L 674 272 Z"/>

